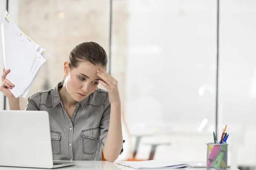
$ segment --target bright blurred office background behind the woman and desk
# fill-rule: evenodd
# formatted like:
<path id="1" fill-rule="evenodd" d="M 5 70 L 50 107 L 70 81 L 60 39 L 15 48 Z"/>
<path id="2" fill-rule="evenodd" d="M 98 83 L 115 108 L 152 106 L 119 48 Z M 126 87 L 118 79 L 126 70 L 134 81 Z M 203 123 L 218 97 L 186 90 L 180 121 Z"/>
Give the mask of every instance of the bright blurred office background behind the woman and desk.
<path id="1" fill-rule="evenodd" d="M 205 161 L 216 125 L 218 139 L 227 125 L 229 164 L 256 166 L 255 0 L 219 0 L 219 8 L 217 0 L 1 0 L 2 16 L 6 6 L 50 54 L 20 108 L 62 80 L 77 44 L 95 41 L 119 82 L 126 140 L 119 160 L 135 153 L 147 160 L 156 148 L 151 159 Z M 0 109 L 8 109 L 3 100 Z"/>

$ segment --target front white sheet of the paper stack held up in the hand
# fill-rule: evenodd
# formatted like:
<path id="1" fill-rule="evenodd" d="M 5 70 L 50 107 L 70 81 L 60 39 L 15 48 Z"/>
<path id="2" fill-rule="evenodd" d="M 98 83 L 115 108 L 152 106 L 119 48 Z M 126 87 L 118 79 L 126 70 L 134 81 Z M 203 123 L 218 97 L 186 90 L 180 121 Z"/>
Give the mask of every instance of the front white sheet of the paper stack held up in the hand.
<path id="1" fill-rule="evenodd" d="M 29 65 L 32 65 L 37 48 L 12 21 L 4 20 L 2 31 L 4 64 L 6 69 L 11 69 L 6 78 L 15 84 L 11 91 L 17 97 L 20 95 L 20 89 L 24 87 L 23 80 L 29 76 Z"/>

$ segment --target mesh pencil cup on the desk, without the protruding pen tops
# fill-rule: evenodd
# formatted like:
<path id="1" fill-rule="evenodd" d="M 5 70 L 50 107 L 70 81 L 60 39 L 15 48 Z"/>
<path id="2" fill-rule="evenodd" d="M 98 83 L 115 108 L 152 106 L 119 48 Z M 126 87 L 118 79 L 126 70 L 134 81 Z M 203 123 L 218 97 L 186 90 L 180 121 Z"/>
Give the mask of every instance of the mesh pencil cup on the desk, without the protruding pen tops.
<path id="1" fill-rule="evenodd" d="M 207 170 L 227 170 L 227 146 L 207 143 Z"/>

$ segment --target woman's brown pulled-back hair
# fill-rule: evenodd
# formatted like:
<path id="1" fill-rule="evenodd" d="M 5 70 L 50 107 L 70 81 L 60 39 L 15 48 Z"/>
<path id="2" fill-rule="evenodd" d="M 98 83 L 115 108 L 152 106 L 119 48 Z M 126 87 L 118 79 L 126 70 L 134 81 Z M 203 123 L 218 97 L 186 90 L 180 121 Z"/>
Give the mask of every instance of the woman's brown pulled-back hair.
<path id="1" fill-rule="evenodd" d="M 100 64 L 107 68 L 108 57 L 104 48 L 96 42 L 83 42 L 76 45 L 70 52 L 68 59 L 70 69 L 77 68 L 82 61 L 89 61 L 94 65 Z M 62 85 L 64 84 L 65 78 L 64 76 L 61 82 Z"/>

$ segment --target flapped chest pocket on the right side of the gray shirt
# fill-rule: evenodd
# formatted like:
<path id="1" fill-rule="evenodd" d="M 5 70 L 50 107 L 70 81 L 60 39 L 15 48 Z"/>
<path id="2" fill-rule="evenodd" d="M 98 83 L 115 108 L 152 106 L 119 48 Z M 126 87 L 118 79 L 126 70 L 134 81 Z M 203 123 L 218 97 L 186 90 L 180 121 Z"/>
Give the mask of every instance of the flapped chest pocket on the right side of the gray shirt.
<path id="1" fill-rule="evenodd" d="M 97 151 L 99 142 L 99 127 L 82 130 L 83 153 L 93 154 Z"/>

